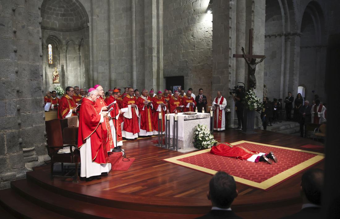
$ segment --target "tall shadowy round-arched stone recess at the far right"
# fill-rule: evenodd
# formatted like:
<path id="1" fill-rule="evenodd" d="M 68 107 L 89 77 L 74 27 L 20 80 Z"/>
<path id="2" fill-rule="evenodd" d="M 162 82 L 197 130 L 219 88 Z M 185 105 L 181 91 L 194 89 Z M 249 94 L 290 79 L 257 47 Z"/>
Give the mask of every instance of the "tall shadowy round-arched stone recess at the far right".
<path id="1" fill-rule="evenodd" d="M 299 84 L 304 84 L 306 96 L 312 97 L 312 90 L 324 97 L 325 85 L 325 17 L 321 5 L 310 1 L 301 19 Z M 311 61 L 314 60 L 314 61 Z"/>

